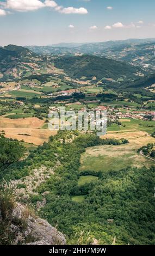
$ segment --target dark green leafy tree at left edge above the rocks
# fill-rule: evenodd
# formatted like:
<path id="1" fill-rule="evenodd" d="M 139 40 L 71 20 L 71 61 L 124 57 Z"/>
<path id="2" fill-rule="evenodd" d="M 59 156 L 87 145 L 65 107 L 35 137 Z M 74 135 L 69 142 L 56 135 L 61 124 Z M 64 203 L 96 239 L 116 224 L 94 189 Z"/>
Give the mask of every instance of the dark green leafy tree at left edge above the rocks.
<path id="1" fill-rule="evenodd" d="M 0 132 L 0 170 L 4 170 L 20 160 L 25 152 L 22 143 L 17 139 L 5 138 L 5 132 Z"/>

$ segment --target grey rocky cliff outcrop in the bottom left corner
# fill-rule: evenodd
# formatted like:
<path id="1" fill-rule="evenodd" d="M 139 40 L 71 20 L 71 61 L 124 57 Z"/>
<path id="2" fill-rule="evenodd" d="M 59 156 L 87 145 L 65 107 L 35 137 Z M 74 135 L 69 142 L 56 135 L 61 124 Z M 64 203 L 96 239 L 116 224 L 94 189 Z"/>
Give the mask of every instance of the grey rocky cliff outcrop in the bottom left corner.
<path id="1" fill-rule="evenodd" d="M 0 228 L 3 216 L 0 209 Z M 66 240 L 56 228 L 47 221 L 32 216 L 28 208 L 16 204 L 11 210 L 4 237 L 8 237 L 11 245 L 65 245 Z M 1 244 L 1 241 L 0 241 Z"/>

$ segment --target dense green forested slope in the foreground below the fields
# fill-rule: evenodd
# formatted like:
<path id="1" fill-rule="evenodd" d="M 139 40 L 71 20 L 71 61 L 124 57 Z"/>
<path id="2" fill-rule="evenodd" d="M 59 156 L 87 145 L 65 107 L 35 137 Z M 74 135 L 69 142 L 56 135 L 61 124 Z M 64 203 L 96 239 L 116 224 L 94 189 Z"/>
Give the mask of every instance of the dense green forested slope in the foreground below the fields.
<path id="1" fill-rule="evenodd" d="M 72 143 L 68 143 L 73 139 Z M 116 236 L 117 245 L 154 245 L 154 168 L 130 168 L 104 171 L 83 170 L 79 173 L 80 156 L 88 147 L 96 145 L 120 145 L 127 143 L 125 139 L 100 139 L 95 135 L 81 135 L 58 132 L 48 143 L 33 151 L 26 160 L 13 163 L 4 171 L 8 163 L 5 159 L 5 141 L 3 135 L 1 153 L 3 166 L 0 169 L 0 181 L 22 178 L 18 181 L 21 200 L 37 204 L 46 199 L 40 215 L 44 212 L 50 224 L 63 231 L 67 243 L 72 245 L 90 245 L 91 239 L 97 239 L 101 245 L 111 245 Z M 10 141 L 13 146 L 11 156 L 15 154 L 17 142 Z M 16 147 L 17 146 L 17 147 Z M 3 152 L 4 151 L 4 152 Z M 9 157 L 9 156 L 8 156 Z M 16 156 L 19 159 L 19 156 Z M 50 161 L 49 161 L 50 160 Z M 42 166 L 53 174 L 35 187 L 35 173 Z M 46 170 L 44 169 L 44 171 Z M 26 175 L 34 175 L 33 193 L 29 191 Z M 46 175 L 46 174 L 45 174 Z M 79 184 L 82 176 L 91 175 L 94 179 L 86 184 Z M 44 175 L 43 175 L 44 176 Z M 25 183 L 24 183 L 25 182 Z M 0 190 L 1 192 L 1 190 Z M 29 192 L 29 196 L 27 196 Z M 2 194 L 2 193 L 0 193 Z M 76 202 L 73 198 L 83 198 Z M 3 237 L 3 234 L 2 234 Z M 1 243 L 1 228 L 0 228 Z"/>

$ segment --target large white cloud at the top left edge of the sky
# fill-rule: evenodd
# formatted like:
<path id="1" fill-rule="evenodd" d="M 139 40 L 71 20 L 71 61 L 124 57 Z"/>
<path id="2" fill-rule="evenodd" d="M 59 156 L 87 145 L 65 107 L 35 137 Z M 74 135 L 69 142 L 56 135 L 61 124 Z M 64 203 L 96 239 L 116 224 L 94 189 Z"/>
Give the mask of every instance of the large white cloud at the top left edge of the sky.
<path id="1" fill-rule="evenodd" d="M 17 11 L 32 11 L 45 7 L 40 0 L 7 0 L 6 7 Z"/>

